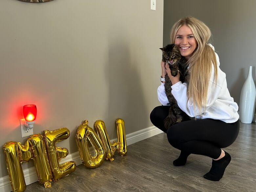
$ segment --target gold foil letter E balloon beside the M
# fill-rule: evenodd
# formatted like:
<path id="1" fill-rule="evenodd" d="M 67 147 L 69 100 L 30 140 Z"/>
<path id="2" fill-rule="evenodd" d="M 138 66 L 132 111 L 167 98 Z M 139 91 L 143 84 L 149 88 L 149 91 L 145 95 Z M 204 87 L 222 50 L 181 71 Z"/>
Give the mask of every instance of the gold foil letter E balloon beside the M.
<path id="1" fill-rule="evenodd" d="M 56 142 L 67 139 L 70 136 L 70 132 L 67 128 L 60 128 L 54 131 L 45 130 L 45 143 L 47 148 L 47 154 L 50 162 L 50 167 L 53 173 L 53 181 L 67 176 L 75 171 L 75 162 L 68 161 L 63 164 L 59 164 L 59 160 L 65 158 L 68 154 L 66 149 L 62 150 L 55 146 Z"/>

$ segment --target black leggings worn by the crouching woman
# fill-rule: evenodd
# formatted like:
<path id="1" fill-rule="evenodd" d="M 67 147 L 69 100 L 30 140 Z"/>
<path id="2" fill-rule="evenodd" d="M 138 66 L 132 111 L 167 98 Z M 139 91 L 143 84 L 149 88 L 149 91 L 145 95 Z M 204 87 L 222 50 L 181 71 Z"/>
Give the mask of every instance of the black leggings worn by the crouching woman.
<path id="1" fill-rule="evenodd" d="M 218 159 L 221 148 L 228 147 L 237 138 L 239 120 L 225 123 L 215 119 L 188 120 L 164 128 L 163 120 L 169 114 L 170 106 L 158 106 L 150 114 L 151 122 L 167 133 L 169 143 L 187 154 L 198 154 Z"/>

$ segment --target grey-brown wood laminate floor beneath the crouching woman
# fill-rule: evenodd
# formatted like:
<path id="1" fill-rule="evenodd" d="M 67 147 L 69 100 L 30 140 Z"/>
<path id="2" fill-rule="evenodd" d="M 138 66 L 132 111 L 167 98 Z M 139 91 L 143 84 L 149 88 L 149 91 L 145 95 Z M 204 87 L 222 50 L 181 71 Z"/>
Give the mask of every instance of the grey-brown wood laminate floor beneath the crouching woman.
<path id="1" fill-rule="evenodd" d="M 185 166 L 175 167 L 180 151 L 170 146 L 166 134 L 139 141 L 127 147 L 125 157 L 105 160 L 88 169 L 78 165 L 75 172 L 45 189 L 39 182 L 27 186 L 26 192 L 256 192 L 256 124 L 240 123 L 236 141 L 225 150 L 231 155 L 220 181 L 203 178 L 211 159 L 190 155 Z"/>

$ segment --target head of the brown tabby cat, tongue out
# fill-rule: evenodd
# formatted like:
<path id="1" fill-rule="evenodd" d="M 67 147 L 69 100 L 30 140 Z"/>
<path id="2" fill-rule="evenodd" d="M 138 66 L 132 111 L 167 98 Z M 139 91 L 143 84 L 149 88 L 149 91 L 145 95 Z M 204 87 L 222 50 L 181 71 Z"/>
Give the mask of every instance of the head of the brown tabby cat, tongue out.
<path id="1" fill-rule="evenodd" d="M 173 65 L 177 63 L 181 59 L 181 53 L 179 51 L 178 45 L 168 44 L 162 50 L 162 61 L 169 63 L 169 65 Z"/>

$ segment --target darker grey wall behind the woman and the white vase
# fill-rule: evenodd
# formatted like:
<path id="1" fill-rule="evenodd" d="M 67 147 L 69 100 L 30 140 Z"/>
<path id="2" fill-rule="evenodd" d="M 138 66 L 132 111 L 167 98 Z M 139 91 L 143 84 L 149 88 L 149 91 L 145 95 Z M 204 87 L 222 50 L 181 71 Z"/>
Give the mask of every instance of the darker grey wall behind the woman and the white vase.
<path id="1" fill-rule="evenodd" d="M 220 68 L 226 73 L 230 95 L 239 105 L 240 92 L 256 62 L 255 0 L 165 0 L 163 44 L 170 42 L 169 32 L 178 19 L 194 16 L 202 20 L 213 34 L 212 44 L 220 57 Z"/>

